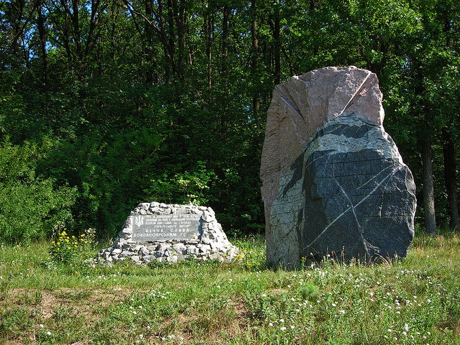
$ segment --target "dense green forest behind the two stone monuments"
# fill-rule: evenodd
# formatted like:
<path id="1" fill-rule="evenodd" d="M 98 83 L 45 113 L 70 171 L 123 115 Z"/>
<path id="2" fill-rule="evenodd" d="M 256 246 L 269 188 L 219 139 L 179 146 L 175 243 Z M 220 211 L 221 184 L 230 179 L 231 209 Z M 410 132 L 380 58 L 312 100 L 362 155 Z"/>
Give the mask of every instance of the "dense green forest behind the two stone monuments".
<path id="1" fill-rule="evenodd" d="M 459 228 L 457 0 L 3 0 L 0 54 L 0 241 L 112 237 L 154 200 L 262 233 L 273 87 L 350 64 L 378 75 L 417 224 Z"/>

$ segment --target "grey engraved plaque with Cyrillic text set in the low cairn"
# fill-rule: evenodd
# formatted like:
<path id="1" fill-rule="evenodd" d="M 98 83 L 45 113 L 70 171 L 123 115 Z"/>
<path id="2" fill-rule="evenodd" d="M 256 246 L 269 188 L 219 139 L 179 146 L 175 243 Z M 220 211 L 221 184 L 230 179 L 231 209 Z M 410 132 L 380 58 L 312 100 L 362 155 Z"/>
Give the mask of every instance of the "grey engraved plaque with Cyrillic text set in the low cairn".
<path id="1" fill-rule="evenodd" d="M 135 215 L 133 236 L 136 242 L 190 240 L 200 236 L 200 214 Z"/>

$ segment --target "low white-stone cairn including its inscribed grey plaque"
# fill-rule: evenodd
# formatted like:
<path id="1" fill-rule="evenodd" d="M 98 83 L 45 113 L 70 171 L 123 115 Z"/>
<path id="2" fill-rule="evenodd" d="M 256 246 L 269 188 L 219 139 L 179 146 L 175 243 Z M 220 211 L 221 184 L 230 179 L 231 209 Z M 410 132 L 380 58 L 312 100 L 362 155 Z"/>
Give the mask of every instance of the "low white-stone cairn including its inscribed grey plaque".
<path id="1" fill-rule="evenodd" d="M 101 250 L 96 262 L 174 263 L 194 258 L 230 263 L 238 252 L 211 207 L 146 202 L 131 211 L 115 243 Z"/>

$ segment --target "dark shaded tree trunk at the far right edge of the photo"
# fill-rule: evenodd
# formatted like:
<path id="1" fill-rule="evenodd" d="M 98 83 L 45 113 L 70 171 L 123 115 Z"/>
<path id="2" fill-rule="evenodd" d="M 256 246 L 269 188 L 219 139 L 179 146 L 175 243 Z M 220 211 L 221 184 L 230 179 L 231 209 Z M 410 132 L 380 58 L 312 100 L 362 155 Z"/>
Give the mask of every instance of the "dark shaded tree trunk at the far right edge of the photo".
<path id="1" fill-rule="evenodd" d="M 446 182 L 450 228 L 460 230 L 459 209 L 457 204 L 457 165 L 455 162 L 455 145 L 452 135 L 443 130 L 444 180 Z"/>

